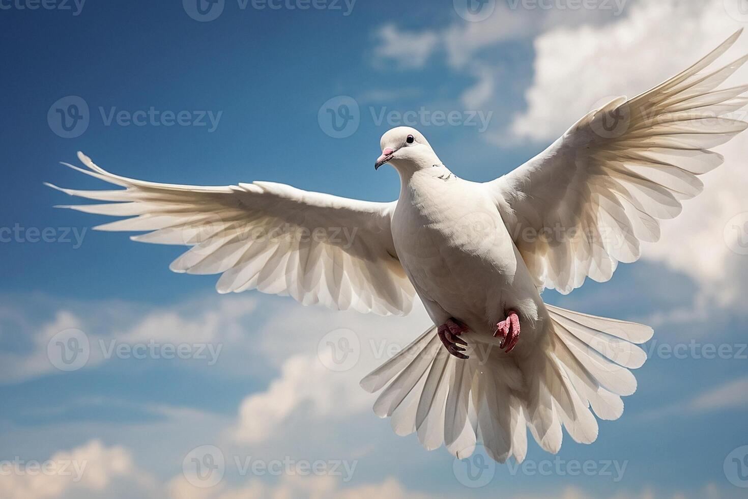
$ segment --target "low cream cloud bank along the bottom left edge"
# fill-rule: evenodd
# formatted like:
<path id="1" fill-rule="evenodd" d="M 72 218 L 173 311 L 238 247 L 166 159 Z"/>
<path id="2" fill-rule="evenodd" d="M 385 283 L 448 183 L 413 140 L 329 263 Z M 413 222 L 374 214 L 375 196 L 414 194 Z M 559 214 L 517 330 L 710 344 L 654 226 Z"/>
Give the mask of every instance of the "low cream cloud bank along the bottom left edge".
<path id="1" fill-rule="evenodd" d="M 130 450 L 91 440 L 44 461 L 0 462 L 2 499 L 172 498 L 172 499 L 426 499 L 396 479 L 342 486 L 331 475 L 284 474 L 277 483 L 256 477 L 232 486 L 221 480 L 210 488 L 191 485 L 183 474 L 161 483 L 135 462 Z M 38 467 L 37 464 L 38 463 Z M 43 466 L 45 468 L 43 468 Z M 44 471 L 41 471 L 41 470 Z"/>

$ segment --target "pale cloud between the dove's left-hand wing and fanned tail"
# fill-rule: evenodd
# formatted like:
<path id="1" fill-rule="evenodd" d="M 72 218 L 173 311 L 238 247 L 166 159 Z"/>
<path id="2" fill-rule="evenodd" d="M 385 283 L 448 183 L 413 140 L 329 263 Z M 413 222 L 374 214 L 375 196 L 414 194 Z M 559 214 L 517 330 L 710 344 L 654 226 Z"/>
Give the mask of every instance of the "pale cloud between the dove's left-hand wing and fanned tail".
<path id="1" fill-rule="evenodd" d="M 266 391 L 244 399 L 234 435 L 245 444 L 268 441 L 293 411 L 304 406 L 304 418 L 345 420 L 369 411 L 373 396 L 359 380 L 408 345 L 429 325 L 423 306 L 406 317 L 381 317 L 324 308 L 293 307 L 274 316 L 263 328 L 260 346 L 281 373 Z M 301 327 L 323 325 L 322 331 Z M 340 343 L 344 341 L 346 343 Z M 349 352 L 339 350 L 340 345 Z M 333 356 L 348 355 L 339 366 Z"/>

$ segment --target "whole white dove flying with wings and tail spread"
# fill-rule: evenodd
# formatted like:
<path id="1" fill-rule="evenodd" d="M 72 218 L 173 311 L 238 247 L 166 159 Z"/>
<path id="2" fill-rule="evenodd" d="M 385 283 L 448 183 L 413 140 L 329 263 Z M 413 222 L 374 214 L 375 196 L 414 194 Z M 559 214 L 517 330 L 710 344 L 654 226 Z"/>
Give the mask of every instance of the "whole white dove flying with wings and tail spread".
<path id="1" fill-rule="evenodd" d="M 220 273 L 219 293 L 257 289 L 382 315 L 405 314 L 414 294 L 433 325 L 369 376 L 384 388 L 375 413 L 429 450 L 521 462 L 527 431 L 551 453 L 562 430 L 595 441 L 598 423 L 621 416 L 633 394 L 645 325 L 545 304 L 540 291 L 569 293 L 586 276 L 607 281 L 619 262 L 660 236 L 696 178 L 722 156 L 708 150 L 748 124 L 748 85 L 715 90 L 747 60 L 705 71 L 738 39 L 634 99 L 587 114 L 547 150 L 488 183 L 456 177 L 415 129 L 381 138 L 376 168 L 399 173 L 399 199 L 373 203 L 278 183 L 178 186 L 110 174 L 79 153 L 82 173 L 125 189 L 69 195 L 116 203 L 65 206 L 135 215 L 99 230 L 151 231 L 132 239 L 190 245 L 175 272 Z M 51 186 L 51 185 L 50 185 Z M 341 233 L 354 235 L 344 238 Z M 442 346 L 444 344 L 444 347 Z M 591 409 L 591 410 L 590 410 Z"/>

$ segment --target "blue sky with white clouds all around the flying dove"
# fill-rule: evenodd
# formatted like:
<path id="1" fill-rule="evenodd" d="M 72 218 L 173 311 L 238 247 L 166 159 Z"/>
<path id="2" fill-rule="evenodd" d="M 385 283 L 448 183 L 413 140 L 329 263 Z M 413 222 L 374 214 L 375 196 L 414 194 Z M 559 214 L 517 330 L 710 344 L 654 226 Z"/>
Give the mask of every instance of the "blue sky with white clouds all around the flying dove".
<path id="1" fill-rule="evenodd" d="M 602 0 L 579 9 L 573 0 L 488 4 L 491 16 L 470 21 L 447 0 L 308 10 L 289 8 L 298 1 L 242 9 L 225 0 L 216 19 L 199 22 L 180 1 L 30 10 L 0 0 L 0 236 L 9 239 L 0 242 L 0 462 L 73 456 L 90 466 L 75 482 L 42 477 L 36 495 L 28 473 L 4 474 L 0 497 L 743 497 L 735 483 L 748 483 L 726 462 L 747 454 L 748 257 L 723 229 L 748 212 L 744 136 L 723 151 L 728 162 L 705 179 L 703 199 L 663 227 L 663 241 L 646 247 L 642 261 L 608 283 L 544 295 L 655 327 L 622 418 L 601 422 L 591 446 L 565 438 L 562 468 L 498 466 L 477 489 L 461 482 L 444 448 L 427 453 L 413 435 L 394 435 L 358 388 L 384 360 L 367 345 L 408 343 L 427 324 L 420 307 L 379 318 L 254 291 L 218 296 L 215 276 L 168 270 L 180 248 L 93 231 L 104 217 L 53 208 L 70 200 L 43 186 L 101 188 L 58 164 L 76 163 L 82 150 L 109 171 L 145 180 L 272 180 L 392 200 L 395 172 L 372 167 L 381 134 L 407 116 L 456 174 L 490 180 L 543 150 L 596 101 L 657 84 L 748 21 L 722 0 L 631 0 L 620 11 Z M 738 45 L 746 52 L 748 35 Z M 738 73 L 732 84 L 747 79 Z M 56 109 L 81 102 L 71 96 L 88 107 L 88 126 L 64 138 Z M 359 124 L 334 138 L 323 105 L 343 96 Z M 152 108 L 154 122 L 129 122 Z M 165 126 L 180 112 L 189 124 Z M 455 122 L 440 125 L 440 113 Z M 48 241 L 32 242 L 34 230 L 46 230 Z M 91 356 L 65 372 L 47 344 L 70 328 L 85 332 Z M 361 361 L 342 373 L 317 356 L 340 328 L 363 345 Z M 109 346 L 132 353 L 149 342 L 220 350 L 107 358 Z M 710 358 L 711 346 L 724 354 Z M 194 489 L 183 461 L 203 445 L 221 450 L 226 476 Z M 356 464 L 345 481 L 242 473 L 234 458 L 248 456 Z M 530 447 L 529 462 L 554 459 Z M 569 462 L 625 471 L 619 480 L 614 467 L 613 476 L 576 476 L 563 471 Z"/>

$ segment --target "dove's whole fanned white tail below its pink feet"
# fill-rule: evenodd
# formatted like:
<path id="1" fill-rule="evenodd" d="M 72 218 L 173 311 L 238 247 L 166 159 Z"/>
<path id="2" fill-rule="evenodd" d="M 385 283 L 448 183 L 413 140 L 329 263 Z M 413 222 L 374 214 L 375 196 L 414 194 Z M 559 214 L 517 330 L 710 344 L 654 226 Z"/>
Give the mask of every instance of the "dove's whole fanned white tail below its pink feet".
<path id="1" fill-rule="evenodd" d="M 646 325 L 591 316 L 548 305 L 550 341 L 544 351 L 515 362 L 499 349 L 470 359 L 448 355 L 437 328 L 425 333 L 361 381 L 371 392 L 384 388 L 374 405 L 392 416 L 398 435 L 417 432 L 426 449 L 446 444 L 464 459 L 481 441 L 488 456 L 506 462 L 527 456 L 527 429 L 545 450 L 557 453 L 562 426 L 574 441 L 598 436 L 598 418 L 618 419 L 622 395 L 637 382 L 629 369 L 646 361 Z M 520 340 L 521 341 L 521 340 Z M 539 347 L 540 348 L 540 347 Z"/>

